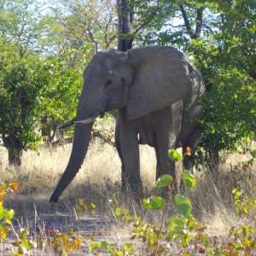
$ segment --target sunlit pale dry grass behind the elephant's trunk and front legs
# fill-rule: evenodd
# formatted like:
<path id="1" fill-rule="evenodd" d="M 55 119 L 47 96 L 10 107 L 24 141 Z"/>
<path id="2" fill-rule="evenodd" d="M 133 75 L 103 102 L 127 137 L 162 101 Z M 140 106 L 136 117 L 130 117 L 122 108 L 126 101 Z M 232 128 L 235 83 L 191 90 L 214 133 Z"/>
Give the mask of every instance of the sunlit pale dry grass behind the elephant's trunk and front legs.
<path id="1" fill-rule="evenodd" d="M 51 193 L 67 166 L 71 149 L 72 144 L 68 144 L 59 148 L 41 148 L 39 154 L 33 151 L 24 152 L 20 169 L 0 169 L 1 180 L 17 179 L 21 193 Z M 155 178 L 153 148 L 141 146 L 141 173 L 143 182 L 147 186 L 152 186 Z M 109 187 L 110 183 L 118 185 L 120 177 L 121 163 L 116 149 L 96 139 L 90 143 L 83 166 L 66 190 L 77 190 L 78 186 L 91 184 L 96 184 L 97 187 Z M 67 191 L 64 191 L 63 195 L 68 195 L 70 191 Z"/>

